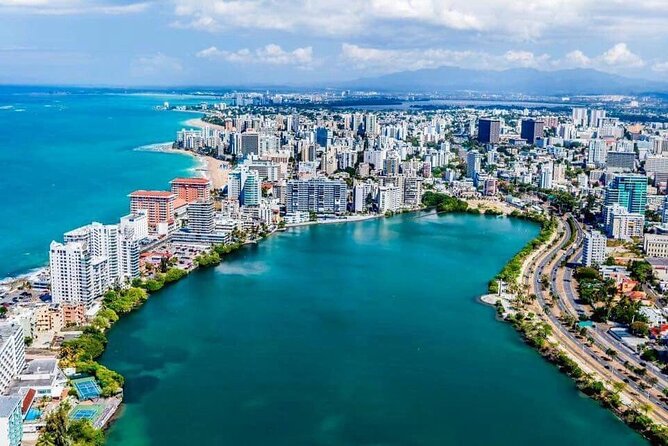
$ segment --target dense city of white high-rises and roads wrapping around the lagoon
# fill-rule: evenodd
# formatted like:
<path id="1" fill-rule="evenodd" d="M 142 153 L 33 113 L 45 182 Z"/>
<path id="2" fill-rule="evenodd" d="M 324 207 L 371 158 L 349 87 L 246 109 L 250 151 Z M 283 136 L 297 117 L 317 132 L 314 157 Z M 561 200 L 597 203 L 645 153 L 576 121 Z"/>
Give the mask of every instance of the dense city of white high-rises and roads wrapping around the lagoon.
<path id="1" fill-rule="evenodd" d="M 536 222 L 482 301 L 583 393 L 668 444 L 662 102 L 415 99 L 237 93 L 159 105 L 193 112 L 157 150 L 192 154 L 201 175 L 132 192 L 127 215 L 66 232 L 47 267 L 2 284 L 0 444 L 103 444 L 124 381 L 96 362 L 105 332 L 162 287 L 276 231 L 403 212 Z"/>

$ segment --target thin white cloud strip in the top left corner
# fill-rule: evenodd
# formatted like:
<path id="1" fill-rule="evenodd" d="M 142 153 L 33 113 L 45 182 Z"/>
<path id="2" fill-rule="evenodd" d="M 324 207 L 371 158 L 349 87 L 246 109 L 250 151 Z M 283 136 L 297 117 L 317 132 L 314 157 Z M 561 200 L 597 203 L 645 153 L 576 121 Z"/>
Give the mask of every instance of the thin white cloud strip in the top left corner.
<path id="1" fill-rule="evenodd" d="M 0 12 L 41 15 L 137 14 L 146 11 L 151 2 L 113 4 L 85 0 L 0 0 Z"/>

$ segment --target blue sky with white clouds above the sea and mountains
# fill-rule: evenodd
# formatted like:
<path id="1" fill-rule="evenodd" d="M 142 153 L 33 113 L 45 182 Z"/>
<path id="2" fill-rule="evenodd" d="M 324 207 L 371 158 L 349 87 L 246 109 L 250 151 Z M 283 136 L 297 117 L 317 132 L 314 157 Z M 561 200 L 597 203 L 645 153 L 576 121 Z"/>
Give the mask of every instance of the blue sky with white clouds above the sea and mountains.
<path id="1" fill-rule="evenodd" d="M 668 80 L 668 0 L 0 0 L 0 83 L 335 84 L 456 66 Z"/>

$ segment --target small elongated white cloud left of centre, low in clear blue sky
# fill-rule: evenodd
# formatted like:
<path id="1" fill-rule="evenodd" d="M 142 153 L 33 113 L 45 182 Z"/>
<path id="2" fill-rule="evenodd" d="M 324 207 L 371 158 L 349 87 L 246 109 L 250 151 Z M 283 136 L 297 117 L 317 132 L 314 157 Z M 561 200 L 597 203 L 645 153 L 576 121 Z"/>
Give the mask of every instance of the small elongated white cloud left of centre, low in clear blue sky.
<path id="1" fill-rule="evenodd" d="M 242 48 L 237 51 L 219 50 L 215 46 L 203 49 L 197 57 L 210 60 L 224 60 L 232 63 L 258 63 L 268 65 L 295 65 L 299 68 L 311 68 L 314 64 L 313 48 L 308 46 L 285 51 L 279 45 L 270 43 L 251 51 Z"/>

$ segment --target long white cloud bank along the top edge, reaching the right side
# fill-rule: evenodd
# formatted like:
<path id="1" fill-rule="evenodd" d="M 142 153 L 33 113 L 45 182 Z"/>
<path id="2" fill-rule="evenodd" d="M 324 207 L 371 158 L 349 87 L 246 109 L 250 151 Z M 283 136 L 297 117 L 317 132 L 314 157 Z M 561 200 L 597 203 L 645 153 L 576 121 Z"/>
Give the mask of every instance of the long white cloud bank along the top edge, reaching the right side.
<path id="1" fill-rule="evenodd" d="M 546 35 L 596 38 L 665 35 L 664 0 L 171 0 L 175 26 L 206 31 L 246 28 L 346 38 L 412 26 L 434 39 L 443 31 L 534 41 Z"/>

